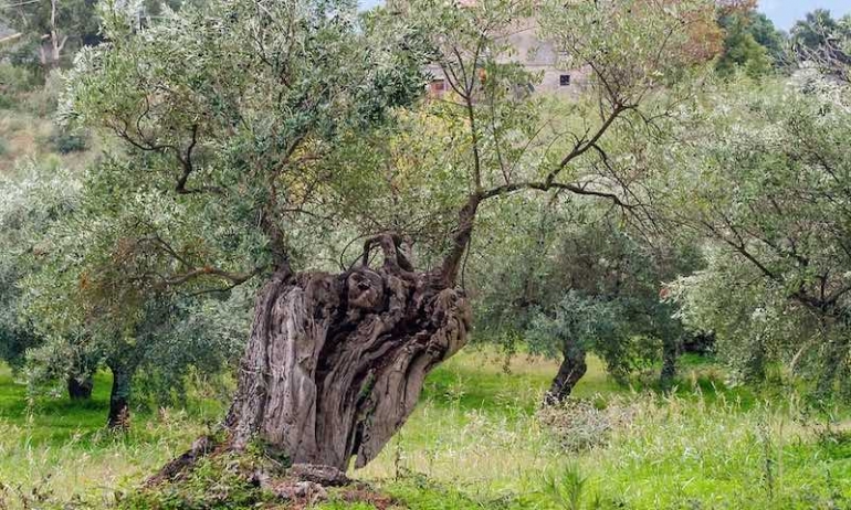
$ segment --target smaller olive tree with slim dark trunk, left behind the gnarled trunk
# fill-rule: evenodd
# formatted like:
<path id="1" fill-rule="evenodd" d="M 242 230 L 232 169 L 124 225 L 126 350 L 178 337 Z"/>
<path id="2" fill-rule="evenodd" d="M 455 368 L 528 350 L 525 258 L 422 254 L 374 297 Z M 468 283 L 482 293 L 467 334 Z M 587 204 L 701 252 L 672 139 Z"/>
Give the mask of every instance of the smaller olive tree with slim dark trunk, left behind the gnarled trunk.
<path id="1" fill-rule="evenodd" d="M 164 404 L 171 393 L 185 394 L 190 370 L 210 375 L 232 366 L 243 344 L 234 328 L 248 327 L 251 305 L 241 293 L 139 289 L 139 275 L 157 266 L 150 254 L 136 255 L 162 243 L 146 236 L 148 229 L 174 226 L 180 210 L 151 208 L 139 194 L 128 200 L 106 180 L 114 164 L 107 159 L 86 172 L 82 184 L 88 193 L 73 213 L 44 227 L 40 264 L 19 286 L 25 289 L 22 315 L 43 339 L 29 355 L 33 381 L 53 379 L 69 360 L 85 360 L 91 370 L 103 363 L 113 375 L 107 423 L 122 428 L 129 425 L 137 374 L 145 374 L 146 387 Z"/>

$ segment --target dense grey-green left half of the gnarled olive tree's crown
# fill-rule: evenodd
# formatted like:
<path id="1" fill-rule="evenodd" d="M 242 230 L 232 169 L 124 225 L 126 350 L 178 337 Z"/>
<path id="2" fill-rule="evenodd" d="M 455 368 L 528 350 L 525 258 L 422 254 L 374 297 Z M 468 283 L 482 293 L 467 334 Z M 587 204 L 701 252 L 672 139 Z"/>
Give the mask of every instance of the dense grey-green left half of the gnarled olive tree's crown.
<path id="1" fill-rule="evenodd" d="M 132 14 L 104 4 L 112 43 L 69 75 L 64 117 L 127 151 L 87 183 L 75 226 L 97 242 L 78 245 L 92 289 L 80 299 L 133 322 L 160 290 L 227 291 L 284 258 L 317 265 L 309 234 L 329 232 L 315 219 L 335 185 L 376 171 L 333 157 L 419 94 L 406 33 L 361 25 L 348 2 L 211 2 L 140 31 Z"/>

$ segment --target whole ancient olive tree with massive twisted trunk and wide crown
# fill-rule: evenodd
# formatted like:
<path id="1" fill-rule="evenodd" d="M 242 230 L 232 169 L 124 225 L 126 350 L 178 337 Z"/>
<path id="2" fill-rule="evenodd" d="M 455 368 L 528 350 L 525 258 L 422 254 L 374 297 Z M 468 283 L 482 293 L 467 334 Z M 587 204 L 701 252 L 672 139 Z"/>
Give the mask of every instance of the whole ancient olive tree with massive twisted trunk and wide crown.
<path id="1" fill-rule="evenodd" d="M 259 284 L 231 448 L 375 458 L 466 342 L 458 284 L 484 204 L 560 190 L 635 206 L 607 134 L 652 123 L 644 100 L 716 43 L 698 0 L 398 3 L 212 1 L 141 29 L 106 4 L 108 44 L 70 76 L 66 117 L 120 149 L 87 190 L 81 318 L 133 338 L 158 293 Z M 537 78 L 505 59 L 518 17 L 590 70 L 567 119 L 515 94 Z M 416 105 L 428 62 L 452 95 Z"/>

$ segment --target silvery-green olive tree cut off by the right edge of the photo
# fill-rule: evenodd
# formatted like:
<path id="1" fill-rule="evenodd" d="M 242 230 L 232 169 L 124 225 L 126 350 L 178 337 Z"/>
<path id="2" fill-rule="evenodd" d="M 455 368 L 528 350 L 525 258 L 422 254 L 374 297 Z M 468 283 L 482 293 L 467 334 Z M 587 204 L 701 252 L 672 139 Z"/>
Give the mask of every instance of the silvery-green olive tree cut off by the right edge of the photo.
<path id="1" fill-rule="evenodd" d="M 663 181 L 669 214 L 711 240 L 710 267 L 673 286 L 684 318 L 745 373 L 784 362 L 823 394 L 849 360 L 848 92 L 812 73 L 715 91 Z"/>

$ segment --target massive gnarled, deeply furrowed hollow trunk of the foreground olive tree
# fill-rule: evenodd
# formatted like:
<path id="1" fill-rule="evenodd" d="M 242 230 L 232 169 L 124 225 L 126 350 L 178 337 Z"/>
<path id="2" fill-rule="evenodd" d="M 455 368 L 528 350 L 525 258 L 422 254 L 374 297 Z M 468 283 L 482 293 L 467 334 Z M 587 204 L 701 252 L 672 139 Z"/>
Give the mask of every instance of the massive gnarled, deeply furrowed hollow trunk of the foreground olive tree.
<path id="1" fill-rule="evenodd" d="M 402 426 L 429 371 L 464 346 L 470 308 L 442 272 L 414 272 L 398 242 L 368 241 L 340 275 L 279 270 L 260 291 L 225 419 L 231 447 L 260 439 L 293 464 L 345 471 Z"/>

